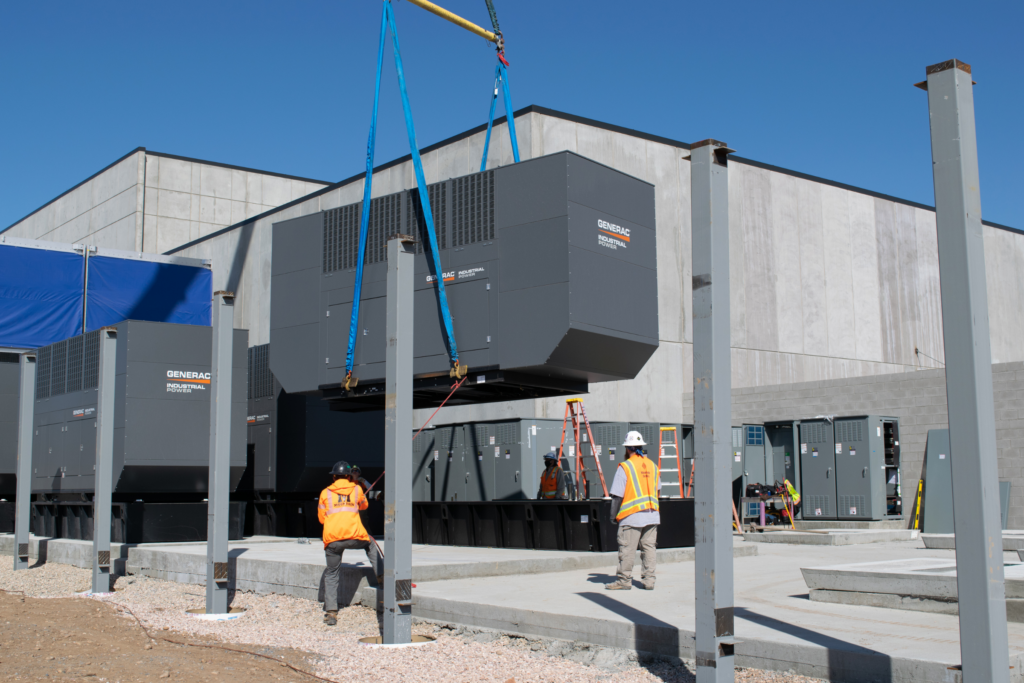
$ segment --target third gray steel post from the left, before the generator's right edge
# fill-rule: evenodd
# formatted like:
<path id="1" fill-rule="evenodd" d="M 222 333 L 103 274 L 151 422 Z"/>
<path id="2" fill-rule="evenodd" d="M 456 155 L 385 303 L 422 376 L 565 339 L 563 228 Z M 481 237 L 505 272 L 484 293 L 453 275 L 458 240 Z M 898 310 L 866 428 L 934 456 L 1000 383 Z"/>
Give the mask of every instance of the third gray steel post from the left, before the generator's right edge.
<path id="1" fill-rule="evenodd" d="M 231 471 L 231 350 L 234 294 L 213 293 L 210 366 L 210 493 L 206 527 L 206 613 L 227 613 L 227 518 Z"/>

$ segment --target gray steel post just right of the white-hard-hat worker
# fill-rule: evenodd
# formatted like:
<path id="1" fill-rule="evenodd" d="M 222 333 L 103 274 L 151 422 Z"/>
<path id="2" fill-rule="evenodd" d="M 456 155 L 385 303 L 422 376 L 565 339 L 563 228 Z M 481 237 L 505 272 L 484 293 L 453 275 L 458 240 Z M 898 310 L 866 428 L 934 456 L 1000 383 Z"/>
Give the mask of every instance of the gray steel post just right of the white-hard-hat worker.
<path id="1" fill-rule="evenodd" d="M 717 140 L 703 140 L 690 147 L 697 683 L 735 680 L 729 360 L 731 152 Z"/>

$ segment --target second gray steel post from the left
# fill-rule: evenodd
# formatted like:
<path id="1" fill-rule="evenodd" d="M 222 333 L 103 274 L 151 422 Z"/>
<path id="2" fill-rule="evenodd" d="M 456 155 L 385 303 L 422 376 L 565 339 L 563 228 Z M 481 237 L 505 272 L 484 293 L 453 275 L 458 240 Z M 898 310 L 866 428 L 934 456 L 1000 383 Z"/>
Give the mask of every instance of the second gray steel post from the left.
<path id="1" fill-rule="evenodd" d="M 96 487 L 92 495 L 92 592 L 111 591 L 111 504 L 114 497 L 114 410 L 118 330 L 99 331 L 96 405 Z"/>

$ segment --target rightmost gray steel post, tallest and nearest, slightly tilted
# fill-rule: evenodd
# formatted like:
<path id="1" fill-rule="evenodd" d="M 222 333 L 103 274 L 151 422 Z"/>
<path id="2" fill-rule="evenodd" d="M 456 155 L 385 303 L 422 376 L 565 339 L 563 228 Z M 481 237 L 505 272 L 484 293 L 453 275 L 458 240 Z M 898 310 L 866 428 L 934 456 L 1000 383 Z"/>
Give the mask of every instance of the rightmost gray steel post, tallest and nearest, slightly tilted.
<path id="1" fill-rule="evenodd" d="M 971 66 L 926 69 L 942 294 L 961 663 L 965 683 L 1010 680 L 978 145 Z"/>

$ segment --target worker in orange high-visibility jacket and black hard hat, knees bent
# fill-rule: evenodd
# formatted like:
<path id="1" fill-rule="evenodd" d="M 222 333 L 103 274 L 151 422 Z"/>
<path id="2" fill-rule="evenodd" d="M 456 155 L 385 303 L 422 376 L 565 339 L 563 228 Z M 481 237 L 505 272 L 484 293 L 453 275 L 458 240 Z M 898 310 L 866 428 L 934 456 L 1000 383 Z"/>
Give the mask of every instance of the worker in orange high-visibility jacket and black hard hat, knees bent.
<path id="1" fill-rule="evenodd" d="M 380 550 L 367 533 L 359 518 L 359 510 L 368 507 L 362 487 L 355 482 L 352 467 L 345 461 L 335 463 L 331 469 L 334 483 L 321 492 L 317 513 L 324 525 L 324 553 L 327 569 L 324 571 L 324 623 L 338 623 L 338 584 L 341 575 L 341 556 L 346 550 L 365 550 L 370 566 L 377 574 L 377 585 L 383 586 L 384 573 Z"/>

